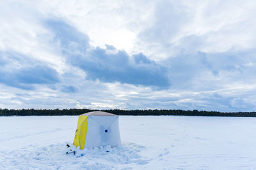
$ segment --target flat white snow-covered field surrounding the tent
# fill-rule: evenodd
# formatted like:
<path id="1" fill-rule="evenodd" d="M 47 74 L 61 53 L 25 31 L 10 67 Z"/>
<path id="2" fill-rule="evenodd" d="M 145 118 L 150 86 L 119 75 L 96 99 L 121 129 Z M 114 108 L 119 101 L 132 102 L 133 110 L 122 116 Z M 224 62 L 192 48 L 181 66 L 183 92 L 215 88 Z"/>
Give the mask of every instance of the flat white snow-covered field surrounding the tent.
<path id="1" fill-rule="evenodd" d="M 256 169 L 256 118 L 121 116 L 122 146 L 76 157 L 77 118 L 0 117 L 0 169 Z"/>

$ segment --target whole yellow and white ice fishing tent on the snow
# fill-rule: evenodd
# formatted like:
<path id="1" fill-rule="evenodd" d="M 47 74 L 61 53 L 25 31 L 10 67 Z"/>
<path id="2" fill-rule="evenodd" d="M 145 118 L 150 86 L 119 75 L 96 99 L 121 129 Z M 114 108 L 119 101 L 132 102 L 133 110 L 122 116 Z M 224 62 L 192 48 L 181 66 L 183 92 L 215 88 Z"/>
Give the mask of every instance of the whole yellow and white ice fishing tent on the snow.
<path id="1" fill-rule="evenodd" d="M 118 115 L 92 111 L 79 115 L 73 144 L 83 150 L 97 146 L 121 144 Z"/>

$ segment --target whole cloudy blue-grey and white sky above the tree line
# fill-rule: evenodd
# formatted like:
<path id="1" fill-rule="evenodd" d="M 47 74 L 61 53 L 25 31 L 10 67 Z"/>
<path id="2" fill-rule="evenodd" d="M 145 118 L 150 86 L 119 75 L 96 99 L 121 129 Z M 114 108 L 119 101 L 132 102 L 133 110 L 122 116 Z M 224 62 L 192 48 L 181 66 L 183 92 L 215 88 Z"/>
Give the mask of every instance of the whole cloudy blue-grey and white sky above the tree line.
<path id="1" fill-rule="evenodd" d="M 0 108 L 255 111 L 255 1 L 3 1 Z"/>

